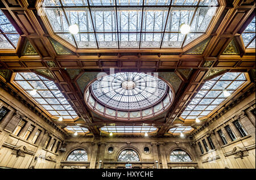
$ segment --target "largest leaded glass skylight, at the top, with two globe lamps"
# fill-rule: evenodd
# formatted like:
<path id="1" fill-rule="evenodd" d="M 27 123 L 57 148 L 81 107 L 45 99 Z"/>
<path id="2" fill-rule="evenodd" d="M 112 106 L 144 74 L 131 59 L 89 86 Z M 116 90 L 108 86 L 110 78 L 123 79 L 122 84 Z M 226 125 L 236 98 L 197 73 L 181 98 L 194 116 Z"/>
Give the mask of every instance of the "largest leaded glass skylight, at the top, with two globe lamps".
<path id="1" fill-rule="evenodd" d="M 217 0 L 45 0 L 43 9 L 56 35 L 76 48 L 182 48 L 203 35 Z M 188 35 L 181 24 L 191 25 Z M 78 24 L 79 33 L 69 33 Z"/>

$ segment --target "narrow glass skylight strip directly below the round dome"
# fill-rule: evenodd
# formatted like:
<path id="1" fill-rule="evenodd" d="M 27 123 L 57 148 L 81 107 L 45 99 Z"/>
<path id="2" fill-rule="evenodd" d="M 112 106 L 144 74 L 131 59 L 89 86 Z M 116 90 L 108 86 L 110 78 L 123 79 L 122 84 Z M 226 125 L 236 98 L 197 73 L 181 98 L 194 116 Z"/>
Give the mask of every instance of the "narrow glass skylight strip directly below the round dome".
<path id="1" fill-rule="evenodd" d="M 104 126 L 101 127 L 101 131 L 113 132 L 113 133 L 150 133 L 156 131 L 157 128 L 154 126 Z"/>

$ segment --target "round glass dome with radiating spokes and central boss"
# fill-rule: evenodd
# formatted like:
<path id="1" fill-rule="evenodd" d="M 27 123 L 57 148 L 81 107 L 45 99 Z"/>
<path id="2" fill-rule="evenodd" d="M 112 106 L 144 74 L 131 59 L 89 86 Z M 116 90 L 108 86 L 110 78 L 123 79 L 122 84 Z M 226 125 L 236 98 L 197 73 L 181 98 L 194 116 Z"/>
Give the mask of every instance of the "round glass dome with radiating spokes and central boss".
<path id="1" fill-rule="evenodd" d="M 141 109 L 162 99 L 167 84 L 156 78 L 138 72 L 119 72 L 104 76 L 92 83 L 92 93 L 111 108 Z"/>

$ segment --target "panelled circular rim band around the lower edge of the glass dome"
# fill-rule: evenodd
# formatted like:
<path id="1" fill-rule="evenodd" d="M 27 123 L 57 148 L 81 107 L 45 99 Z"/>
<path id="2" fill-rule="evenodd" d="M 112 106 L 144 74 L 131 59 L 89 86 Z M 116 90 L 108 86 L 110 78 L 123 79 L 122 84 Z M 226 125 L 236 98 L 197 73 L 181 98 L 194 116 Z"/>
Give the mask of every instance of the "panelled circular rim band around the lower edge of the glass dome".
<path id="1" fill-rule="evenodd" d="M 109 73 L 106 75 L 109 75 Z M 170 108 L 175 98 L 175 90 L 172 85 L 166 79 L 160 76 L 158 78 L 167 84 L 167 92 L 160 100 L 150 106 L 147 106 L 146 108 L 117 109 L 103 104 L 93 96 L 93 93 L 91 92 L 92 89 L 90 88 L 92 83 L 95 82 L 97 78 L 92 79 L 84 89 L 85 104 L 90 110 L 92 110 L 93 113 L 114 121 L 144 121 L 146 119 L 157 117 Z"/>

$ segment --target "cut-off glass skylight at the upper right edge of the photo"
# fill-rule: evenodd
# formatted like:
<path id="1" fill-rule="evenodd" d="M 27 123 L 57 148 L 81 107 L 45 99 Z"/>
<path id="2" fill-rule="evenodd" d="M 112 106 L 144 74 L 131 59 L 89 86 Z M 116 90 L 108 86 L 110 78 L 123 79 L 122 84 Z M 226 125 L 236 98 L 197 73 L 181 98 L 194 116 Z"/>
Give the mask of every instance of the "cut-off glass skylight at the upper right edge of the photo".
<path id="1" fill-rule="evenodd" d="M 255 17 L 242 33 L 245 48 L 255 48 Z"/>

